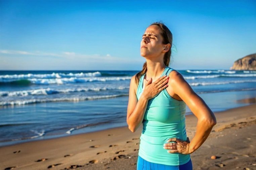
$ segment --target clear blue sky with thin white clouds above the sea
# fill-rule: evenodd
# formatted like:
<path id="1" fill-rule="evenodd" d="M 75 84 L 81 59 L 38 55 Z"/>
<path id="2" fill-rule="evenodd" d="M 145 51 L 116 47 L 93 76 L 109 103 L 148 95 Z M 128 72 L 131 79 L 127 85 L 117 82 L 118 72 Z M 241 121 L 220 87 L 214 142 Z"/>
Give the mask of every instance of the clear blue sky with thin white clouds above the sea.
<path id="1" fill-rule="evenodd" d="M 0 70 L 141 70 L 155 21 L 173 34 L 174 69 L 228 70 L 256 53 L 256 1 L 0 0 Z"/>

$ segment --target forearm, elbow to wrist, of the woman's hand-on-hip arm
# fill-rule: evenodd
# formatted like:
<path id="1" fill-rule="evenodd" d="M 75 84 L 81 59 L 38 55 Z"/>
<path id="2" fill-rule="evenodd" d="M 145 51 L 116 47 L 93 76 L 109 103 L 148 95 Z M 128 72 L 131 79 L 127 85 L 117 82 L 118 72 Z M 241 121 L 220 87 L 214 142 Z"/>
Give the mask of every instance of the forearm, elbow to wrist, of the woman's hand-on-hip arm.
<path id="1" fill-rule="evenodd" d="M 212 120 L 198 120 L 195 137 L 189 143 L 190 153 L 195 152 L 206 141 L 214 125 Z"/>

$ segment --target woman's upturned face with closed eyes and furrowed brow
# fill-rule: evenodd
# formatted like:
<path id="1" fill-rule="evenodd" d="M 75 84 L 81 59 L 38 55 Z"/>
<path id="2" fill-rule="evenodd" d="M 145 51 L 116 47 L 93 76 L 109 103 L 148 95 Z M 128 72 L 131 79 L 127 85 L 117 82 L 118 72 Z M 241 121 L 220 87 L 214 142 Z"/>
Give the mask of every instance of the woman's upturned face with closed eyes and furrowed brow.
<path id="1" fill-rule="evenodd" d="M 157 25 L 147 27 L 140 42 L 140 55 L 146 58 L 158 58 L 164 49 L 163 38 Z"/>

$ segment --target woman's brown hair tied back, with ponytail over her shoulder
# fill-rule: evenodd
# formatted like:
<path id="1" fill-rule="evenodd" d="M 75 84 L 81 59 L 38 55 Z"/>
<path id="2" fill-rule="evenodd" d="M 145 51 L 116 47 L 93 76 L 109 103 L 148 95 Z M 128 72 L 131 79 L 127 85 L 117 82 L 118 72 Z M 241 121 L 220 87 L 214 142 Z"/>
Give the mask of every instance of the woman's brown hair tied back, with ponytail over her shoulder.
<path id="1" fill-rule="evenodd" d="M 157 25 L 160 28 L 160 30 L 161 30 L 160 34 L 163 37 L 162 44 L 168 44 L 168 43 L 171 44 L 171 47 L 170 47 L 169 51 L 164 54 L 164 64 L 169 67 L 170 60 L 171 60 L 171 53 L 172 53 L 171 52 L 171 48 L 172 48 L 172 33 L 169 30 L 169 28 L 163 22 L 160 22 L 160 21 L 153 22 L 149 26 L 151 26 L 151 25 Z M 136 82 L 137 85 L 139 83 L 140 77 L 143 74 L 145 74 L 146 71 L 147 71 L 147 62 L 145 62 L 143 64 L 142 70 L 135 75 L 135 82 Z"/>

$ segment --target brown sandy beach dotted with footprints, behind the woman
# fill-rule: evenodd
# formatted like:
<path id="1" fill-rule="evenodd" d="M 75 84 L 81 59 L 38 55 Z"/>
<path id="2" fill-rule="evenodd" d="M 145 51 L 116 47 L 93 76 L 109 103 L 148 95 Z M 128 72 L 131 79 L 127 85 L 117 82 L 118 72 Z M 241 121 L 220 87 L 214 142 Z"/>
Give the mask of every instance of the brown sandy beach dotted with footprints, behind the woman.
<path id="1" fill-rule="evenodd" d="M 256 104 L 215 116 L 209 138 L 191 154 L 193 169 L 256 169 Z M 194 115 L 186 116 L 190 141 L 196 124 Z M 141 128 L 135 133 L 120 127 L 1 147 L 0 169 L 136 169 Z"/>

